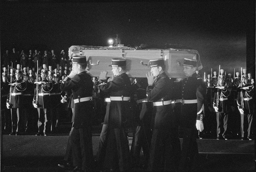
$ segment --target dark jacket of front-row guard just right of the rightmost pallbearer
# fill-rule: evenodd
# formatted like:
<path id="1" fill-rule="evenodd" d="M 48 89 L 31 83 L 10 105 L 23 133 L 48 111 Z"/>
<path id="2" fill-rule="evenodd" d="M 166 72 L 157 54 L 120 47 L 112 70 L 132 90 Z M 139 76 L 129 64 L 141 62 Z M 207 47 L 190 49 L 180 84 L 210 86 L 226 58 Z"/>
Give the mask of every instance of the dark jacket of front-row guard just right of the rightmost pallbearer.
<path id="1" fill-rule="evenodd" d="M 223 101 L 220 101 L 219 100 L 219 104 L 218 104 L 218 107 L 219 108 L 219 112 L 221 113 L 227 113 L 228 112 L 228 105 L 230 105 L 230 99 L 228 99 L 228 97 L 230 96 L 231 94 L 231 87 L 226 87 L 224 89 L 217 89 L 215 90 L 214 92 L 214 98 L 213 98 L 213 107 L 216 106 L 216 102 L 217 102 L 217 92 L 219 91 L 219 97 L 218 99 L 227 99 L 227 100 L 223 100 Z"/>

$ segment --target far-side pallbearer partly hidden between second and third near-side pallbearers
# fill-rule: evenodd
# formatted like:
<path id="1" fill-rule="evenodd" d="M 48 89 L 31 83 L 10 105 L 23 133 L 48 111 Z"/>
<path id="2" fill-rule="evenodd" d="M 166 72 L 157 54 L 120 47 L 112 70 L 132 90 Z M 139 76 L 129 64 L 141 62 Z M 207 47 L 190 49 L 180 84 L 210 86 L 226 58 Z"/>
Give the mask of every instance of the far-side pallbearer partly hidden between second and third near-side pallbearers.
<path id="1" fill-rule="evenodd" d="M 134 79 L 134 89 L 136 90 L 137 104 L 139 108 L 139 121 L 134 130 L 132 138 L 131 156 L 133 165 L 139 166 L 140 163 L 140 150 L 142 148 L 144 161 L 142 168 L 148 167 L 149 148 L 151 144 L 151 117 L 153 111 L 152 101 L 147 100 L 147 86 L 148 81 L 146 78 Z"/>

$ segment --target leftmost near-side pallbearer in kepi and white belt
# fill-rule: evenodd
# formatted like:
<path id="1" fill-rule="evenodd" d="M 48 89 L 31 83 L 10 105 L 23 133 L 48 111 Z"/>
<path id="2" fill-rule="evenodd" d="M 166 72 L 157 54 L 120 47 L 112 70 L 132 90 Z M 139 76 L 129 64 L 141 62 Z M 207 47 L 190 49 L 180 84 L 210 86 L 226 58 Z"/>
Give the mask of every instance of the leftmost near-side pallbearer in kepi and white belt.
<path id="1" fill-rule="evenodd" d="M 90 75 L 85 71 L 86 56 L 73 56 L 72 72 L 60 90 L 72 91 L 74 98 L 74 129 L 70 135 L 74 171 L 92 170 L 92 89 Z M 80 169 L 82 168 L 82 169 Z"/>

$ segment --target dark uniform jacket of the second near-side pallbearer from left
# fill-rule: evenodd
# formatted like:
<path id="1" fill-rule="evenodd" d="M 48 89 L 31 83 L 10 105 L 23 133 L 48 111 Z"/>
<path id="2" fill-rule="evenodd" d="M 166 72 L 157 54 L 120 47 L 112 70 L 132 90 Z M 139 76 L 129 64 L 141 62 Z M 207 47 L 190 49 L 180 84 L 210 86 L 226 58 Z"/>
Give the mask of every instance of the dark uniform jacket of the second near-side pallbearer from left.
<path id="1" fill-rule="evenodd" d="M 99 89 L 108 93 L 110 97 L 131 96 L 131 82 L 126 73 L 119 74 L 113 81 L 99 84 Z M 127 126 L 130 115 L 129 101 L 111 101 L 108 104 L 104 124 L 109 124 L 109 128 Z"/>

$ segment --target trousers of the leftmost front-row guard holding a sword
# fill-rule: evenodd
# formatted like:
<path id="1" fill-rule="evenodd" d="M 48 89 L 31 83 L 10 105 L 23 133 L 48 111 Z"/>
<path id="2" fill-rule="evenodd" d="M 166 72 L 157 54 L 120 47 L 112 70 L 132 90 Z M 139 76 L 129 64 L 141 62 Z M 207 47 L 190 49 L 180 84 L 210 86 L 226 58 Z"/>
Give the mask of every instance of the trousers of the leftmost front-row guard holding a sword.
<path id="1" fill-rule="evenodd" d="M 23 116 L 20 113 L 20 108 L 12 108 L 11 114 L 12 114 L 12 132 L 20 132 L 22 131 L 23 126 Z"/>

